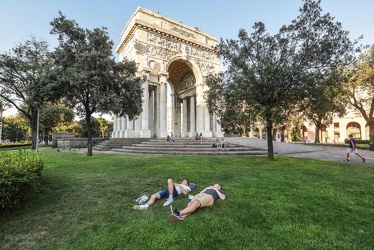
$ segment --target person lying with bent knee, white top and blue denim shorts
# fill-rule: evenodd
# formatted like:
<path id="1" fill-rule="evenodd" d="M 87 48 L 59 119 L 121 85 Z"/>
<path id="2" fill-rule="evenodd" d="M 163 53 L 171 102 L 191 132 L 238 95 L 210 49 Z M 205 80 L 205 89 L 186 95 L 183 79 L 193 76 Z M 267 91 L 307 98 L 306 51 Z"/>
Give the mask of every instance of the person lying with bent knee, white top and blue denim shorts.
<path id="1" fill-rule="evenodd" d="M 163 204 L 164 206 L 168 206 L 174 201 L 174 197 L 177 197 L 180 194 L 187 195 L 191 192 L 191 187 L 189 186 L 188 180 L 183 180 L 181 184 L 175 183 L 172 179 L 168 179 L 168 187 L 152 194 L 151 198 L 147 202 L 147 204 L 144 205 L 135 205 L 134 209 L 137 210 L 147 210 L 149 206 L 154 204 L 156 200 L 166 198 L 166 202 Z"/>

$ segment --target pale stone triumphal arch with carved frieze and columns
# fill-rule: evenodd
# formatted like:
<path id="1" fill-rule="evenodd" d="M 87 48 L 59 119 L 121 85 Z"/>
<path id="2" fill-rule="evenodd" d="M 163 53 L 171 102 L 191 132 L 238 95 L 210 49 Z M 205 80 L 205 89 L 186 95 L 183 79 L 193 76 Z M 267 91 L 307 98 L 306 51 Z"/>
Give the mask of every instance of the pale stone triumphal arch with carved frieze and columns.
<path id="1" fill-rule="evenodd" d="M 204 100 L 204 78 L 221 71 L 218 40 L 158 13 L 137 8 L 120 36 L 119 60 L 144 76 L 143 112 L 136 120 L 113 116 L 113 138 L 222 137 Z M 169 104 L 169 105 L 168 105 Z M 169 106 L 169 108 L 168 108 Z"/>

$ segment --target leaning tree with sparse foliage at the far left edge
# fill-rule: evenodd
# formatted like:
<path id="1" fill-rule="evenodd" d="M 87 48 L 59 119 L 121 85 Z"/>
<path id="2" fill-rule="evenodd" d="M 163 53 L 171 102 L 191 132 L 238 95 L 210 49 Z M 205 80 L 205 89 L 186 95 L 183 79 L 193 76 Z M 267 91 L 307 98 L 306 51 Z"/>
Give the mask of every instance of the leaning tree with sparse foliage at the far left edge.
<path id="1" fill-rule="evenodd" d="M 0 54 L 0 100 L 15 107 L 29 121 L 32 148 L 36 148 L 38 108 L 54 100 L 53 68 L 48 44 L 32 37 L 10 52 Z"/>

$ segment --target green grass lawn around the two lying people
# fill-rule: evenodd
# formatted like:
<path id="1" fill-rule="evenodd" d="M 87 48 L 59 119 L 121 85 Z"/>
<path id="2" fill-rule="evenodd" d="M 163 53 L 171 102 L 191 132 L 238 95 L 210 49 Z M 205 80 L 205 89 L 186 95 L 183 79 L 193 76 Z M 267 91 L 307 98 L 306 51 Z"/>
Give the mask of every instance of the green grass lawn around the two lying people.
<path id="1" fill-rule="evenodd" d="M 372 249 L 374 168 L 277 156 L 135 156 L 41 151 L 43 190 L 0 218 L 0 249 Z M 135 199 L 188 178 L 225 201 L 171 223 Z M 181 196 L 174 206 L 183 208 Z"/>

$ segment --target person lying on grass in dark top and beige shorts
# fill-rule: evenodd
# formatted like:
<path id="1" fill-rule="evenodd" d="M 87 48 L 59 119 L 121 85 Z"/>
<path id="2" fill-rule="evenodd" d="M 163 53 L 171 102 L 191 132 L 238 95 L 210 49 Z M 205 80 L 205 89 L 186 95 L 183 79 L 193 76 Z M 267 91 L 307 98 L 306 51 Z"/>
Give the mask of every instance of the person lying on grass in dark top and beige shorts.
<path id="1" fill-rule="evenodd" d="M 225 200 L 226 193 L 222 190 L 222 186 L 216 183 L 213 186 L 206 187 L 199 194 L 195 195 L 185 209 L 179 211 L 170 206 L 171 214 L 169 215 L 169 220 L 182 221 L 198 208 L 212 206 L 218 199 Z"/>

